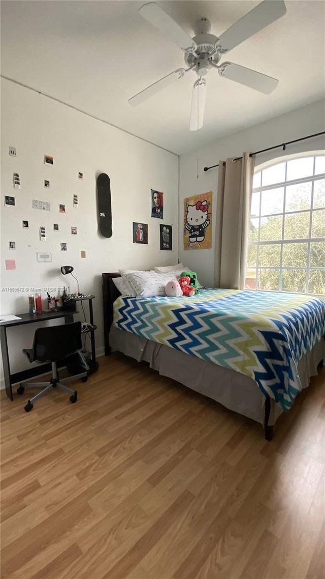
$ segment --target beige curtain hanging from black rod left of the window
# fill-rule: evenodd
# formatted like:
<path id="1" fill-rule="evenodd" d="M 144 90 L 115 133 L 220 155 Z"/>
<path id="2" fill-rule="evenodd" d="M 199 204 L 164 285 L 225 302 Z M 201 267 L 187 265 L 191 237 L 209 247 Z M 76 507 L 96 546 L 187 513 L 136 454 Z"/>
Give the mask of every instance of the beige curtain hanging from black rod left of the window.
<path id="1" fill-rule="evenodd" d="M 217 189 L 215 287 L 242 290 L 250 225 L 254 158 L 243 153 L 219 162 Z"/>

